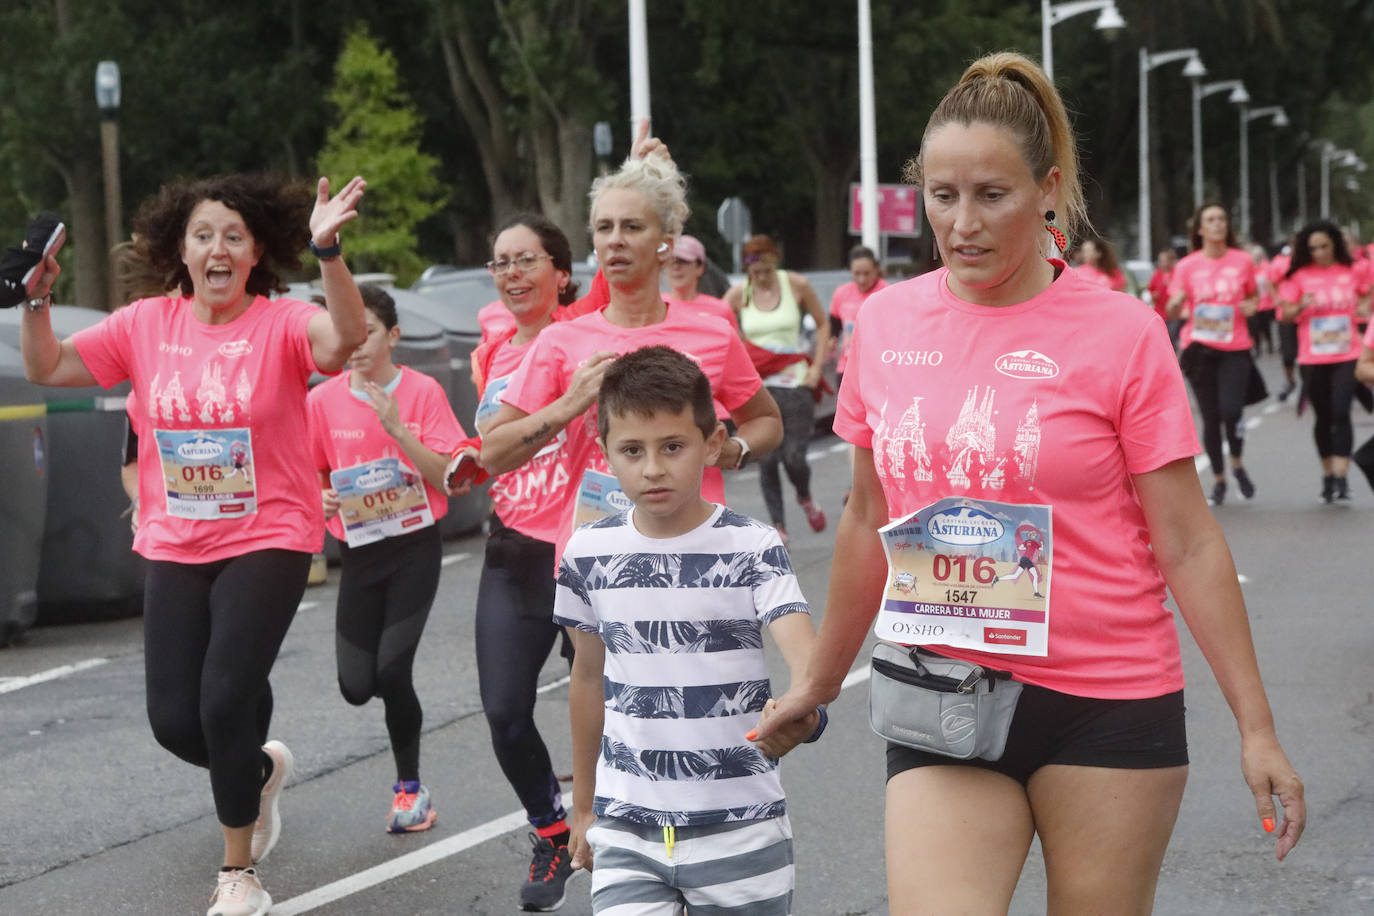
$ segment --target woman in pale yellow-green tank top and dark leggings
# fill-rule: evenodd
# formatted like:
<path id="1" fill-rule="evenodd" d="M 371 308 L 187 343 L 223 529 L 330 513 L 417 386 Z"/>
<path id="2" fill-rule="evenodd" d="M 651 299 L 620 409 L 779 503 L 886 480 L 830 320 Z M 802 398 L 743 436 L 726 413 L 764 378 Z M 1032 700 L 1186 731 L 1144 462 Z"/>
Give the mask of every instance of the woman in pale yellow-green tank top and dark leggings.
<path id="1" fill-rule="evenodd" d="M 778 246 L 767 235 L 745 243 L 747 279 L 725 293 L 725 302 L 739 316 L 739 331 L 746 341 L 774 353 L 802 353 L 802 314 L 816 323 L 816 339 L 805 360 L 797 360 L 764 379 L 764 386 L 782 412 L 782 448 L 760 460 L 758 485 L 768 507 L 768 520 L 778 529 L 782 542 L 789 542 L 787 516 L 782 505 L 780 463 L 797 490 L 797 503 L 812 531 L 826 530 L 826 514 L 811 497 L 811 466 L 807 444 L 816 426 L 816 387 L 820 367 L 830 349 L 830 319 L 807 277 L 783 271 Z M 809 360 L 809 361 L 808 361 Z"/>

